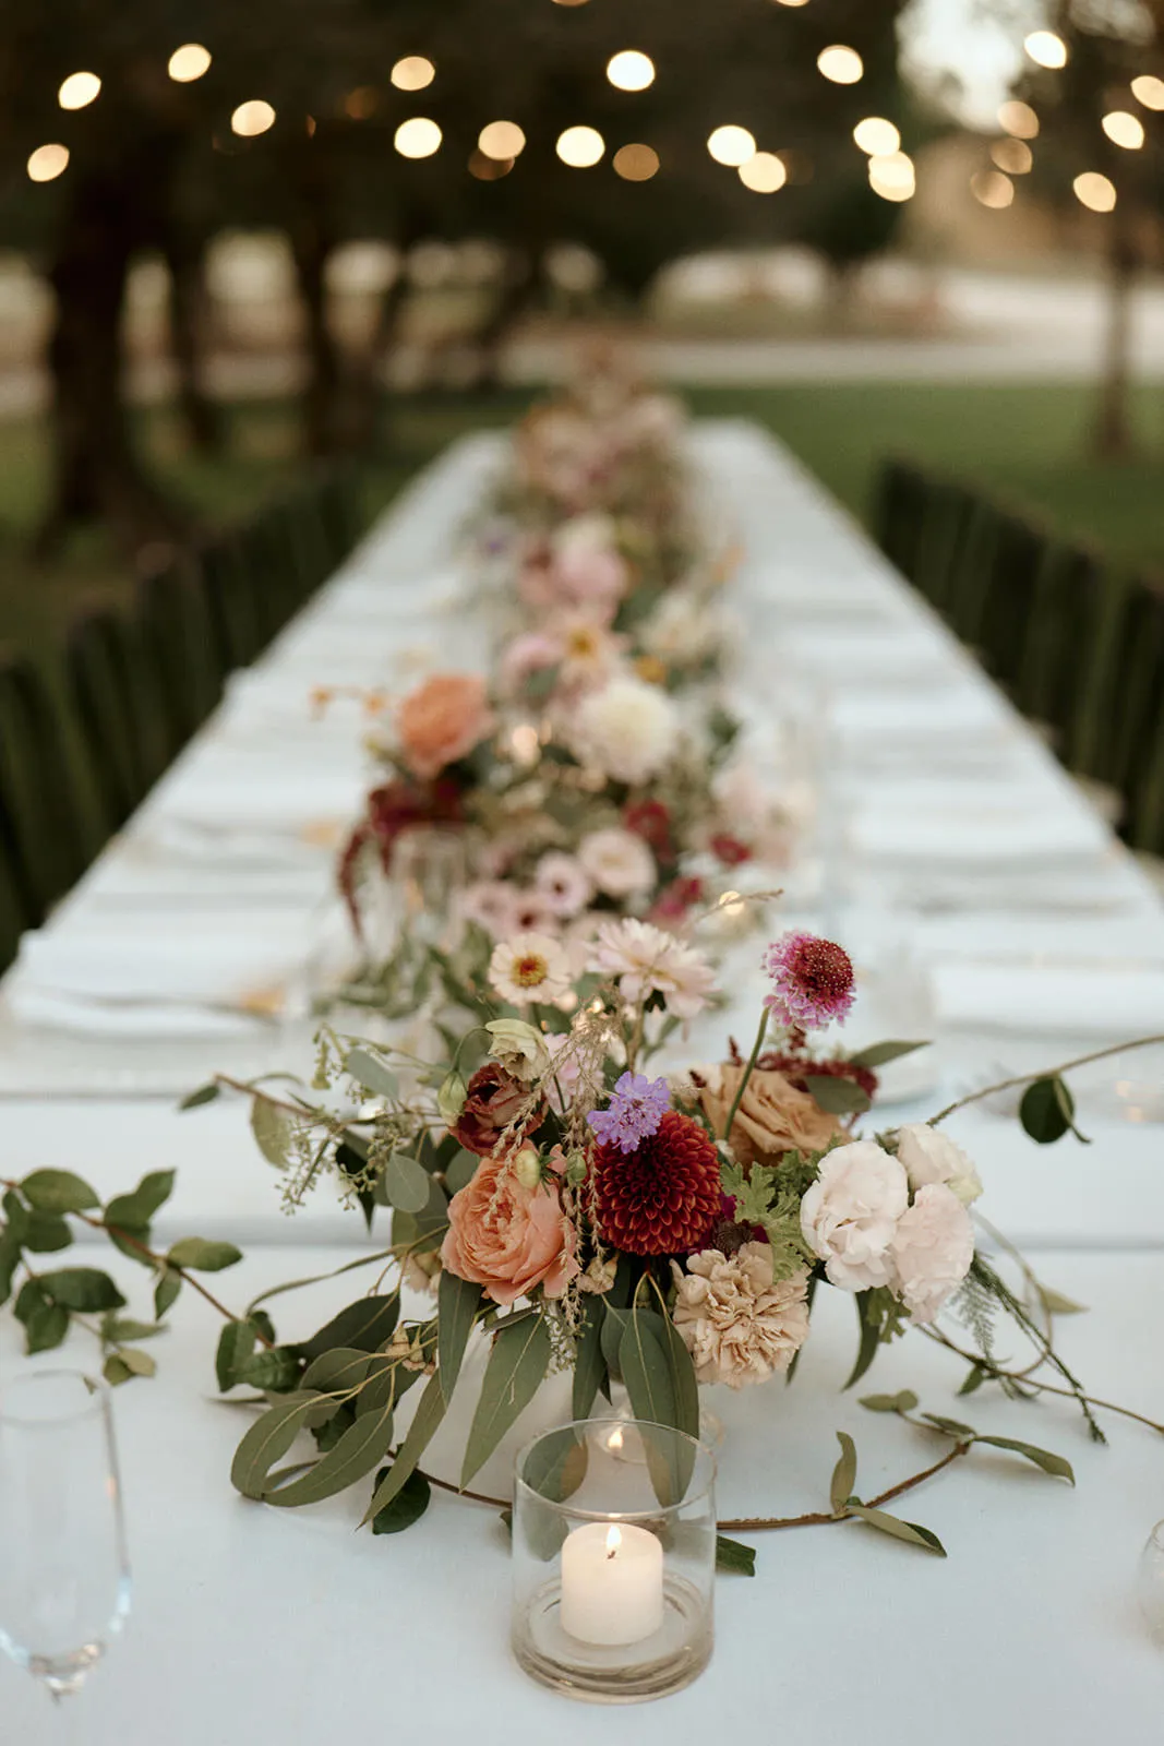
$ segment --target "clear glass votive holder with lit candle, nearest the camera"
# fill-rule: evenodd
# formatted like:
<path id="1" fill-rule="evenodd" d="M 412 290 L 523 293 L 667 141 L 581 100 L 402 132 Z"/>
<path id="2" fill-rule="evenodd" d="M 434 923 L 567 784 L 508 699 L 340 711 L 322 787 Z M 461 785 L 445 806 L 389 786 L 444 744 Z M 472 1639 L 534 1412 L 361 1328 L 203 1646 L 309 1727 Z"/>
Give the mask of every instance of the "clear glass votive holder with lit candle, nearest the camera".
<path id="1" fill-rule="evenodd" d="M 712 1653 L 716 1456 L 667 1425 L 579 1419 L 513 1477 L 513 1653 L 571 1697 L 632 1704 L 689 1685 Z"/>

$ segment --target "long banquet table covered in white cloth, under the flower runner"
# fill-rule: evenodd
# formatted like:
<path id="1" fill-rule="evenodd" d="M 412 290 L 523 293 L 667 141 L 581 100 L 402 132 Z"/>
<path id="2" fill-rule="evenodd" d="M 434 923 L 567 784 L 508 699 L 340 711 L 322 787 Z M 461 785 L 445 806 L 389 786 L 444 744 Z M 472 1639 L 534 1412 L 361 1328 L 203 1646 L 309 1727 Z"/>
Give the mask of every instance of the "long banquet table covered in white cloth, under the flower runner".
<path id="1" fill-rule="evenodd" d="M 5 1173 L 54 1165 L 113 1193 L 176 1166 L 157 1234 L 239 1241 L 248 1259 L 222 1280 L 230 1303 L 368 1240 L 326 1191 L 283 1213 L 241 1100 L 183 1116 L 175 1103 L 215 1070 L 246 1077 L 304 1058 L 304 1014 L 339 950 L 335 843 L 366 780 L 366 719 L 340 693 L 483 665 L 464 527 L 503 443 L 461 442 L 414 484 L 236 677 L 0 985 Z M 815 726 L 825 749 L 829 873 L 813 885 L 791 870 L 785 915 L 855 941 L 859 969 L 876 971 L 878 1020 L 934 1025 L 928 1084 L 913 1102 L 906 1090 L 892 1119 L 921 1119 L 1007 1070 L 1164 1032 L 1164 910 L 1038 737 L 770 436 L 700 424 L 691 454 L 705 515 L 743 552 L 729 588 L 742 625 L 733 702 L 754 753 L 763 766 L 794 693 L 799 730 Z M 337 690 L 323 714 L 318 686 Z M 742 1035 L 754 957 L 752 941 L 731 960 Z M 1073 1083 L 1091 1147 L 1038 1149 L 993 1105 L 951 1131 L 979 1163 L 989 1219 L 1092 1306 L 1063 1325 L 1085 1379 L 1159 1418 L 1164 1051 Z M 281 1332 L 323 1320 L 328 1290 L 288 1308 Z M 298 1746 L 347 1718 L 438 1741 L 469 1729 L 489 1743 L 543 1729 L 590 1737 L 593 1713 L 536 1692 L 506 1659 L 508 1570 L 489 1516 L 438 1498 L 419 1529 L 384 1542 L 353 1538 L 344 1502 L 291 1514 L 232 1495 L 239 1416 L 209 1404 L 202 1308 L 178 1306 L 157 1381 L 117 1397 L 136 1613 L 80 1699 L 79 1737 L 122 1746 L 162 1716 L 176 1746 Z M 754 1390 L 724 1411 L 724 1512 L 813 1507 L 838 1428 L 869 1451 L 867 1493 L 923 1465 L 914 1433 L 836 1395 L 852 1346 L 841 1310 L 813 1334 L 794 1397 Z M 7 1327 L 5 1365 L 12 1353 Z M 876 1372 L 878 1388 L 911 1386 L 939 1413 L 958 1381 L 925 1341 Z M 759 1578 L 719 1585 L 709 1674 L 647 1711 L 604 1716 L 607 1736 L 688 1737 L 756 1706 L 813 1741 L 970 1743 L 991 1729 L 1082 1743 L 1105 1722 L 1154 1739 L 1164 1669 L 1129 1599 L 1140 1542 L 1164 1514 L 1152 1433 L 1112 1421 L 1112 1447 L 1092 1449 L 1066 1407 L 977 1400 L 956 1416 L 1068 1454 L 1078 1495 L 974 1456 L 909 1500 L 948 1542 L 948 1564 L 853 1528 L 761 1538 Z M 0 1667 L 3 1746 L 52 1739 L 42 1706 Z"/>

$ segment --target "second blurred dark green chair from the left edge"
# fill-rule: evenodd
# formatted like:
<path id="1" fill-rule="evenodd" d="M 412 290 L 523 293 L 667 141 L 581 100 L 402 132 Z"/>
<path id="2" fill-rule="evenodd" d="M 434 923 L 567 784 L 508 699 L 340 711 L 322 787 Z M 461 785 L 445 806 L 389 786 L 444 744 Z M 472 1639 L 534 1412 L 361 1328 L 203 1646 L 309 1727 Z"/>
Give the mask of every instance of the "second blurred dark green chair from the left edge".
<path id="1" fill-rule="evenodd" d="M 140 625 L 108 609 L 73 623 L 65 660 L 101 807 L 119 829 L 168 763 L 162 679 Z"/>

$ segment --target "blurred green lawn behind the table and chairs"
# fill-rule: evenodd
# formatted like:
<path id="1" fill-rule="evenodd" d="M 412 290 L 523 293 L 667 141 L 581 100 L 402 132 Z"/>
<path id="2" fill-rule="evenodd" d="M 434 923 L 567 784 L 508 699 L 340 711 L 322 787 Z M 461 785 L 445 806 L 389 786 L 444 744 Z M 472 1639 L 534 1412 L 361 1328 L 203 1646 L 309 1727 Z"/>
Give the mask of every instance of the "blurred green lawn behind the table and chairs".
<path id="1" fill-rule="evenodd" d="M 401 396 L 391 414 L 391 456 L 368 478 L 379 510 L 410 471 L 464 430 L 506 424 L 527 395 L 492 400 Z M 1094 403 L 1084 386 L 796 384 L 695 389 L 702 414 L 761 419 L 853 513 L 867 512 L 878 461 L 892 452 L 979 478 L 1066 534 L 1089 538 L 1120 566 L 1164 569 L 1164 395 L 1136 396 L 1150 459 L 1099 468 L 1085 459 Z M 276 492 L 297 463 L 295 424 L 283 402 L 232 407 L 229 457 L 185 452 L 168 410 L 141 414 L 141 438 L 171 491 L 204 524 L 246 513 Z M 47 653 L 79 604 L 124 599 L 133 576 L 98 536 L 79 538 L 59 564 L 33 567 L 24 545 L 47 489 L 38 423 L 0 424 L 0 643 Z"/>

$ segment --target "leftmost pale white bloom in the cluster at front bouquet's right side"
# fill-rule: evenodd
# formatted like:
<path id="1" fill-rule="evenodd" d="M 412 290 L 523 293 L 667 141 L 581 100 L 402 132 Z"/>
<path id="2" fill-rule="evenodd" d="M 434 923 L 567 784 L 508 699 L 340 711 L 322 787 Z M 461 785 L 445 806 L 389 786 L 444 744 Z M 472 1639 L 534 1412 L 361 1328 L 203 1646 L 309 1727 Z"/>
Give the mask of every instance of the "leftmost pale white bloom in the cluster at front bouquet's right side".
<path id="1" fill-rule="evenodd" d="M 907 1205 L 904 1166 L 874 1140 L 825 1152 L 801 1201 L 801 1229 L 832 1285 L 864 1292 L 890 1283 L 892 1243 Z"/>

